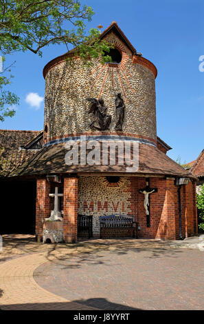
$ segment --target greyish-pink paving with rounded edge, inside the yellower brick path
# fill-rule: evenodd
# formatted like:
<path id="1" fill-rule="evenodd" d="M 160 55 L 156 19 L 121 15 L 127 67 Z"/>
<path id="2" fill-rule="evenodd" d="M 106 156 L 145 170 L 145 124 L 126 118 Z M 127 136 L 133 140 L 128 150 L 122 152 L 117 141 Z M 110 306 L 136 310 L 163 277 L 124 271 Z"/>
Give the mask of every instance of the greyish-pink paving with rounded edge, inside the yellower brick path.
<path id="1" fill-rule="evenodd" d="M 202 310 L 203 278 L 203 252 L 168 248 L 65 253 L 34 272 L 45 290 L 101 310 Z"/>

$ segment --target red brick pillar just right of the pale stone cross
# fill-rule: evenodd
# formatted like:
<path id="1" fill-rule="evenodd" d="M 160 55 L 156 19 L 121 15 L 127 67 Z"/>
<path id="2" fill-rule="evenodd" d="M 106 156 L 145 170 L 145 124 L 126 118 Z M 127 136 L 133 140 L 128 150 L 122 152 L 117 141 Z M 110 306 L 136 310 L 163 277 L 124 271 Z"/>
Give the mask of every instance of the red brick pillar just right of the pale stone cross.
<path id="1" fill-rule="evenodd" d="M 78 178 L 64 179 L 64 225 L 63 239 L 67 243 L 77 241 Z"/>

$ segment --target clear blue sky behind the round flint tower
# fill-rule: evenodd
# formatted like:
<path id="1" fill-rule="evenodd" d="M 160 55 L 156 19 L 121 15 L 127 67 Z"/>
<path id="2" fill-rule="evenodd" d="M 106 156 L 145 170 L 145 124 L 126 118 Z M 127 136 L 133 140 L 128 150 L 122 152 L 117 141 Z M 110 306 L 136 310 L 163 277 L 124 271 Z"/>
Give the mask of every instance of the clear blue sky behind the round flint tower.
<path id="1" fill-rule="evenodd" d="M 156 79 L 157 134 L 173 150 L 172 159 L 181 162 L 196 159 L 204 148 L 204 72 L 199 57 L 204 55 L 203 0 L 85 0 L 95 15 L 87 28 L 116 21 L 138 52 L 154 63 Z M 65 45 L 51 45 L 43 58 L 32 52 L 6 57 L 12 68 L 10 90 L 20 97 L 16 116 L 1 123 L 10 130 L 41 130 L 43 101 L 32 107 L 25 101 L 30 92 L 44 97 L 45 64 L 65 53 Z"/>

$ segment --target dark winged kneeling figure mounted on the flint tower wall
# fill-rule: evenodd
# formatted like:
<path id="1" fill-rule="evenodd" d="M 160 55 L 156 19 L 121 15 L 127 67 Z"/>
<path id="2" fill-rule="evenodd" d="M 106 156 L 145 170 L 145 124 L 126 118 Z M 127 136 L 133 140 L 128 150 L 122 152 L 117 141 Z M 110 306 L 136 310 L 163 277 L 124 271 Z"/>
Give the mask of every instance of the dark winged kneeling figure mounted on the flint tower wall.
<path id="1" fill-rule="evenodd" d="M 95 115 L 94 121 L 91 123 L 90 127 L 96 130 L 109 130 L 111 123 L 111 115 L 107 114 L 107 108 L 104 105 L 104 99 L 87 98 L 91 104 L 89 106 L 89 114 L 93 113 Z M 95 125 L 96 123 L 96 125 Z"/>

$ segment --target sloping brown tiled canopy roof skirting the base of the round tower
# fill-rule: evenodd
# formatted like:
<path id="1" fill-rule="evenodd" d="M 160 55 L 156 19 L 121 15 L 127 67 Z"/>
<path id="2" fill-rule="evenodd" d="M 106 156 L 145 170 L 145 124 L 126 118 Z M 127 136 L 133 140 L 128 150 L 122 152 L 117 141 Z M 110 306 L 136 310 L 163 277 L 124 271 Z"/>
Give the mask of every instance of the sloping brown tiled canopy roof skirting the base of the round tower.
<path id="1" fill-rule="evenodd" d="M 126 172 L 127 165 L 66 165 L 66 153 L 65 143 L 44 147 L 19 168 L 13 170 L 10 176 L 72 174 L 78 172 L 118 172 L 124 174 Z M 139 143 L 139 168 L 137 172 L 133 170 L 132 173 L 195 178 L 188 170 L 182 168 L 181 165 L 170 159 L 157 147 L 144 143 Z M 131 175 L 131 172 L 126 174 Z"/>

